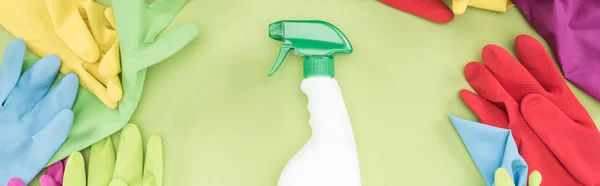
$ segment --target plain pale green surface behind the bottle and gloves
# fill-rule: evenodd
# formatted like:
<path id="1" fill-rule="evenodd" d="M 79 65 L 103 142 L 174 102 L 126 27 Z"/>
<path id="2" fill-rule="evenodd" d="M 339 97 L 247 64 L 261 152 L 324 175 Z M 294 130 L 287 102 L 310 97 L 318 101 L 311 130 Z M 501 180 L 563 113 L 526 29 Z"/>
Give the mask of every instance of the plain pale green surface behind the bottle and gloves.
<path id="1" fill-rule="evenodd" d="M 144 141 L 163 138 L 164 185 L 276 185 L 310 138 L 302 58 L 267 77 L 282 44 L 267 26 L 283 19 L 325 20 L 352 42 L 354 53 L 336 57 L 336 79 L 363 185 L 484 185 L 445 116 L 476 120 L 458 97 L 469 88 L 462 69 L 486 44 L 512 52 L 519 34 L 541 38 L 515 8 L 469 8 L 441 25 L 373 0 L 190 0 L 167 30 L 192 23 L 200 34 L 150 67 L 131 119 Z M 12 38 L 0 30 L 2 51 Z M 573 90 L 598 119 L 598 102 Z"/>

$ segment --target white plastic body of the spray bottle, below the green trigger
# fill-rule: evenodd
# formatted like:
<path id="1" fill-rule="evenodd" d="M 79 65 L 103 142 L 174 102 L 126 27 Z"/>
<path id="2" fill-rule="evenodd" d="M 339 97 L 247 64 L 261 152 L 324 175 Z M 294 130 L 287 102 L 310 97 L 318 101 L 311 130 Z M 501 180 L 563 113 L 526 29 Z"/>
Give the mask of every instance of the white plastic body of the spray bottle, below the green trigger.
<path id="1" fill-rule="evenodd" d="M 335 79 L 302 80 L 308 98 L 312 137 L 288 162 L 279 186 L 360 186 L 354 134 L 342 93 Z"/>

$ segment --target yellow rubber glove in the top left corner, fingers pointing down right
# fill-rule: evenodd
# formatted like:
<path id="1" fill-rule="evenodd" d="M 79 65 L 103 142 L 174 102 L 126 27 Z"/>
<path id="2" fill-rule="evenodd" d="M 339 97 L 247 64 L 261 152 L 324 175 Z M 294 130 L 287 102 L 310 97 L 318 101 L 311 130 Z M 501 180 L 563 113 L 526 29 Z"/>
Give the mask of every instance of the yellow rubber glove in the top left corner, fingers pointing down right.
<path id="1" fill-rule="evenodd" d="M 112 8 L 92 0 L 0 1 L 0 25 L 39 56 L 56 54 L 62 73 L 110 108 L 123 95 L 119 43 Z"/>

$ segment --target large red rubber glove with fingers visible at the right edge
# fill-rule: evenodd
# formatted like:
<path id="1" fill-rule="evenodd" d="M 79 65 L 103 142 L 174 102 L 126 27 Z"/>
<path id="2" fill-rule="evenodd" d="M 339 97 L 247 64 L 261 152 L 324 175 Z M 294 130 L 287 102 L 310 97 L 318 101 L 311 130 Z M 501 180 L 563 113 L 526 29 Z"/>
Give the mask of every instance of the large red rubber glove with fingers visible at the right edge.
<path id="1" fill-rule="evenodd" d="M 600 170 L 594 163 L 600 160 L 600 140 L 592 139 L 600 135 L 591 117 L 541 43 L 521 35 L 515 49 L 521 62 L 499 46 L 484 47 L 485 65 L 465 67 L 465 77 L 479 95 L 461 90 L 461 98 L 482 123 L 512 130 L 529 171 L 544 175 L 543 186 L 597 183 L 590 180 L 600 179 L 594 174 Z"/>

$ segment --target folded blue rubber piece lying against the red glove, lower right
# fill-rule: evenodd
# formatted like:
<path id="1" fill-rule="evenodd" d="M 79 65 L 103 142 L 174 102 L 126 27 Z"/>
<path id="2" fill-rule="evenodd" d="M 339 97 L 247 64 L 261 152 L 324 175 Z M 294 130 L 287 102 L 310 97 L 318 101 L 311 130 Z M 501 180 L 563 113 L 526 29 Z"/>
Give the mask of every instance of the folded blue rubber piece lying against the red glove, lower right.
<path id="1" fill-rule="evenodd" d="M 486 185 L 494 185 L 496 169 L 504 168 L 517 186 L 527 186 L 528 166 L 510 130 L 448 115 Z"/>

